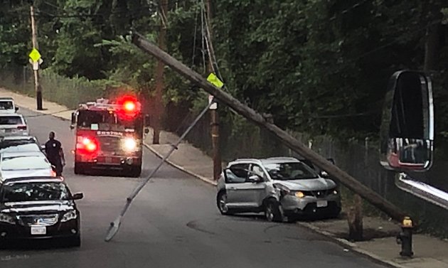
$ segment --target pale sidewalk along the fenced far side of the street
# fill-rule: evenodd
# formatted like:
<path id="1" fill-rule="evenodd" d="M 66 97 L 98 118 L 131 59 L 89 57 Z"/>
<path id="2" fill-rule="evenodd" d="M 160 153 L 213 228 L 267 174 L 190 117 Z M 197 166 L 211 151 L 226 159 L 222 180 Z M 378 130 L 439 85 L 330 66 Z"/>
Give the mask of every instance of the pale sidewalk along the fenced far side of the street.
<path id="1" fill-rule="evenodd" d="M 0 97 L 14 97 L 19 107 L 31 109 L 35 112 L 44 114 L 53 114 L 55 117 L 70 120 L 71 112 L 67 107 L 63 107 L 53 102 L 43 102 L 44 111 L 37 111 L 36 100 L 32 97 L 18 95 L 0 89 Z M 20 109 L 18 110 L 20 112 Z M 151 144 L 152 135 L 146 135 L 145 146 L 159 157 L 163 157 L 171 144 L 176 143 L 178 136 L 161 132 L 160 144 Z M 178 149 L 168 159 L 169 164 L 185 171 L 186 173 L 200 178 L 211 184 L 213 181 L 213 161 L 209 156 L 186 142 L 179 144 Z M 390 267 L 400 268 L 448 268 L 448 241 L 439 240 L 428 235 L 413 236 L 413 251 L 415 256 L 412 259 L 400 257 L 400 245 L 397 245 L 395 236 L 400 231 L 400 227 L 388 220 L 379 218 L 364 218 L 364 235 L 366 241 L 348 242 L 344 237 L 348 234 L 347 220 L 321 220 L 313 222 L 300 222 L 299 225 L 307 227 L 322 235 L 326 235 L 330 239 L 338 242 L 346 248 L 360 254 L 364 254 L 371 259 L 375 259 Z"/>

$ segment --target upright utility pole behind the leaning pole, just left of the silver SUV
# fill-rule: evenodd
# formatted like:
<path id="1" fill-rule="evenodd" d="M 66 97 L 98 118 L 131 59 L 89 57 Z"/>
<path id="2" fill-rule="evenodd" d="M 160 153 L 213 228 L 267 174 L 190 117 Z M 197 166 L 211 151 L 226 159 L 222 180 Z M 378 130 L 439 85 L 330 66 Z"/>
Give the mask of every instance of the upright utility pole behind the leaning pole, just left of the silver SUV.
<path id="1" fill-rule="evenodd" d="M 212 47 L 212 31 L 211 31 L 211 20 L 212 20 L 212 3 L 211 0 L 207 0 L 207 32 L 208 32 L 208 46 L 210 48 L 210 54 L 208 55 L 208 73 L 213 71 L 213 60 L 215 55 Z M 218 114 L 218 104 L 214 107 L 210 107 L 210 126 L 211 126 L 211 138 L 213 146 L 213 179 L 218 181 L 221 173 L 221 152 L 220 152 L 220 140 L 219 140 L 219 114 Z"/>

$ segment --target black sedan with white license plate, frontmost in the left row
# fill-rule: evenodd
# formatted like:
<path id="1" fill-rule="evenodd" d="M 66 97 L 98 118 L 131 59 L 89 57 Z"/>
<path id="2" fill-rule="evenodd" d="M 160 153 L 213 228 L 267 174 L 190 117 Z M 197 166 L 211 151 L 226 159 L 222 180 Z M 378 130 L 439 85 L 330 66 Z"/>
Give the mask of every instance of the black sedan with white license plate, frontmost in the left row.
<path id="1" fill-rule="evenodd" d="M 58 238 L 79 247 L 80 212 L 63 178 L 0 181 L 0 247 L 14 240 Z"/>

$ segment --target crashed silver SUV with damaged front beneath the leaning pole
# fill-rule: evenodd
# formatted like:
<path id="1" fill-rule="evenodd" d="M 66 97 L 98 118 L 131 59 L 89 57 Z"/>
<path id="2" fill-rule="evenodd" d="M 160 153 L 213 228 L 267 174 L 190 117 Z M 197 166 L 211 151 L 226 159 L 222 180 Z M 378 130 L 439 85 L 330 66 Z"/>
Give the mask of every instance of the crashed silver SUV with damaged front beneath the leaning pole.
<path id="1" fill-rule="evenodd" d="M 268 221 L 282 222 L 316 213 L 333 218 L 341 212 L 336 183 L 292 157 L 230 162 L 217 188 L 223 215 L 264 212 Z"/>

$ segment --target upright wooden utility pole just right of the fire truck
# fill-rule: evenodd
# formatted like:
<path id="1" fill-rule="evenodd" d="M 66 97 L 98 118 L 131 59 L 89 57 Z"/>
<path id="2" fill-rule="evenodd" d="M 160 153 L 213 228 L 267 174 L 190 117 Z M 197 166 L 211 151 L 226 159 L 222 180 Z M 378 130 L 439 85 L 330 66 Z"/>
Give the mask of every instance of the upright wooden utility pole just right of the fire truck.
<path id="1" fill-rule="evenodd" d="M 159 31 L 159 48 L 166 50 L 166 18 L 168 14 L 168 0 L 161 0 L 161 16 L 160 16 L 160 31 Z M 152 137 L 153 144 L 160 143 L 160 129 L 161 129 L 161 115 L 162 109 L 164 109 L 163 95 L 164 95 L 164 68 L 165 65 L 161 60 L 157 61 L 156 67 L 156 95 L 154 97 L 154 136 Z"/>

